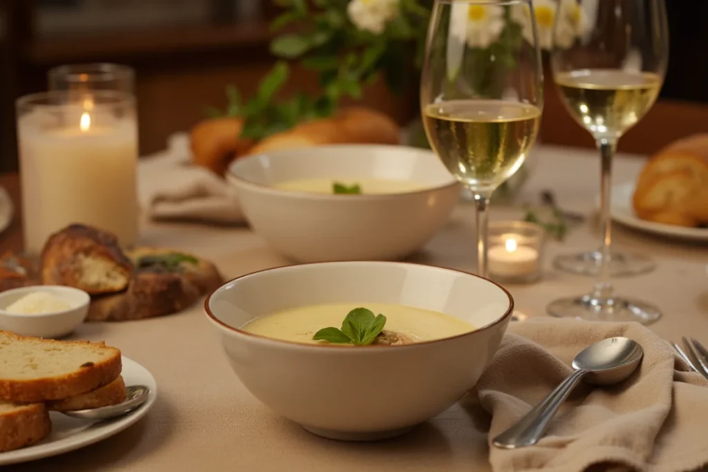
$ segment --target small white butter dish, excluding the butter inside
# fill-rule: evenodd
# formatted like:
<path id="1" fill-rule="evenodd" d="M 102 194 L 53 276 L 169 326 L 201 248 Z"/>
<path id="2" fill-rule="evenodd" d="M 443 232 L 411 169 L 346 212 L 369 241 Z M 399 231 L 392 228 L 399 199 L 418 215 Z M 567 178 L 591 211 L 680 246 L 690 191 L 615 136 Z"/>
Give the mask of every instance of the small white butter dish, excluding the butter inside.
<path id="1" fill-rule="evenodd" d="M 47 292 L 66 301 L 71 308 L 40 314 L 8 313 L 5 308 L 32 292 Z M 35 285 L 0 292 L 0 330 L 21 336 L 62 338 L 84 322 L 91 297 L 83 290 L 62 285 Z"/>

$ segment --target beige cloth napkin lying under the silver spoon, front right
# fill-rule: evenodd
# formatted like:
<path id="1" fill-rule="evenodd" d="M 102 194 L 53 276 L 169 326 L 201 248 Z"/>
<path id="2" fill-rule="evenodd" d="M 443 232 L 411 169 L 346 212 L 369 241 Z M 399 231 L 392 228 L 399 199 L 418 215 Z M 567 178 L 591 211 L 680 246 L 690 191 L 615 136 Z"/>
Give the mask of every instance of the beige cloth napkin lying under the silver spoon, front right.
<path id="1" fill-rule="evenodd" d="M 578 352 L 612 336 L 641 344 L 639 372 L 617 386 L 576 387 L 533 447 L 491 445 L 571 373 Z M 469 406 L 485 426 L 489 421 L 495 472 L 693 471 L 708 464 L 707 386 L 639 324 L 539 319 L 512 323 Z"/>

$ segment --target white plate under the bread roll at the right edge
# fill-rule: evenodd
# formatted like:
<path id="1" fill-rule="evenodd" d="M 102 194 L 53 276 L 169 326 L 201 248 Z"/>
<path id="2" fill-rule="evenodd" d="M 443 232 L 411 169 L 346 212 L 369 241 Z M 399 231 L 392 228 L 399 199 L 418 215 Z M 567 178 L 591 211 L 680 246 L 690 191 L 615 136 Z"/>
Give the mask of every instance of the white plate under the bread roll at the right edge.
<path id="1" fill-rule="evenodd" d="M 662 236 L 708 241 L 708 229 L 705 228 L 685 228 L 639 219 L 632 210 L 632 195 L 634 195 L 634 183 L 632 182 L 612 187 L 612 201 L 610 202 L 612 219 L 626 226 Z"/>

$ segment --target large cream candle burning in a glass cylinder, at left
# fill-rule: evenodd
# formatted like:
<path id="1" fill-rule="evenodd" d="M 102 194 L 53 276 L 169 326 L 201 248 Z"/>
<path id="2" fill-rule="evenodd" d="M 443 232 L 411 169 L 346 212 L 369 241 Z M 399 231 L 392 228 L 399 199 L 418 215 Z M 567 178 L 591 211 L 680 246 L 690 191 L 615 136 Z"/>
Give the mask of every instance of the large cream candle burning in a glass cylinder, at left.
<path id="1" fill-rule="evenodd" d="M 82 223 L 105 229 L 124 246 L 137 240 L 137 119 L 132 95 L 67 91 L 17 100 L 25 251 Z"/>

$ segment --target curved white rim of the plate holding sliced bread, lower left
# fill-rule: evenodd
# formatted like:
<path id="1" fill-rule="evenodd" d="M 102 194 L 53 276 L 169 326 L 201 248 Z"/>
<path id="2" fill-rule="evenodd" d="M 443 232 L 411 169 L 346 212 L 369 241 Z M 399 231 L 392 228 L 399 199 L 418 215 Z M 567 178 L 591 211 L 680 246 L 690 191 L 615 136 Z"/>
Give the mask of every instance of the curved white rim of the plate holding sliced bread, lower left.
<path id="1" fill-rule="evenodd" d="M 147 401 L 141 405 L 136 410 L 128 413 L 127 415 L 115 420 L 113 425 L 105 427 L 105 429 L 98 432 L 86 432 L 86 430 L 81 430 L 76 434 L 72 434 L 69 437 L 65 437 L 57 440 L 56 442 L 49 442 L 45 444 L 33 444 L 29 447 L 23 447 L 21 449 L 15 449 L 13 451 L 0 452 L 0 466 L 8 466 L 11 464 L 20 464 L 23 462 L 35 461 L 38 459 L 46 459 L 47 457 L 58 456 L 59 454 L 64 454 L 66 452 L 75 451 L 76 449 L 81 449 L 91 444 L 96 444 L 96 442 L 103 441 L 103 439 L 108 439 L 109 437 L 118 434 L 119 432 L 126 430 L 128 427 L 135 425 L 136 422 L 141 420 L 149 410 L 152 409 L 157 400 L 157 382 L 152 373 L 138 364 L 129 357 L 121 356 L 121 362 L 123 364 L 123 369 L 125 370 L 125 364 L 132 364 L 130 368 L 142 370 L 144 374 L 149 376 L 152 381 L 152 385 L 148 385 L 150 388 L 150 393 Z M 69 444 L 62 444 L 67 439 L 76 438 L 76 436 L 86 437 L 79 439 L 76 442 L 69 442 Z M 39 449 L 39 450 L 38 450 Z"/>

